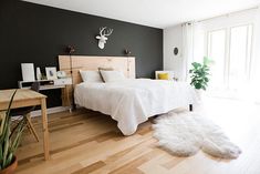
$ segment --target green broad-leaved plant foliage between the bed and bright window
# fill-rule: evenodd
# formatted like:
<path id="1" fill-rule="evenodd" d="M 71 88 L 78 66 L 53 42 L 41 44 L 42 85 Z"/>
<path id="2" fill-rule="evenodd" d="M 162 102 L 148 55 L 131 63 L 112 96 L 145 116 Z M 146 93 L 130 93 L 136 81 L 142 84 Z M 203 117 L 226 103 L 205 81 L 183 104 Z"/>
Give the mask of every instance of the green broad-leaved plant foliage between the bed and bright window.
<path id="1" fill-rule="evenodd" d="M 190 84 L 195 86 L 197 90 L 206 90 L 208 86 L 209 82 L 209 63 L 211 60 L 209 60 L 207 57 L 204 58 L 204 62 L 198 63 L 198 62 L 193 62 L 193 69 L 189 70 L 189 73 L 191 74 L 190 79 L 191 82 Z"/>

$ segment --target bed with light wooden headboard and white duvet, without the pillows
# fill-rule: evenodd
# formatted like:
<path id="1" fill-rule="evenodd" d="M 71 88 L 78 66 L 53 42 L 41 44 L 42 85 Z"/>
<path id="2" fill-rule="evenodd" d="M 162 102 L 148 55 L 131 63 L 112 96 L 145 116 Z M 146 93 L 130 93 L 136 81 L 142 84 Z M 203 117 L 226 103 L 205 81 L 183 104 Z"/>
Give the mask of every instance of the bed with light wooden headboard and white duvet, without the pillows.
<path id="1" fill-rule="evenodd" d="M 61 70 L 67 71 L 67 60 L 65 55 L 59 57 Z M 134 134 L 138 124 L 150 116 L 196 102 L 196 93 L 187 83 L 135 79 L 134 58 L 77 57 L 72 60 L 75 104 L 111 115 L 124 135 Z M 80 69 L 96 70 L 98 66 L 121 69 L 127 79 L 110 83 L 80 80 Z"/>

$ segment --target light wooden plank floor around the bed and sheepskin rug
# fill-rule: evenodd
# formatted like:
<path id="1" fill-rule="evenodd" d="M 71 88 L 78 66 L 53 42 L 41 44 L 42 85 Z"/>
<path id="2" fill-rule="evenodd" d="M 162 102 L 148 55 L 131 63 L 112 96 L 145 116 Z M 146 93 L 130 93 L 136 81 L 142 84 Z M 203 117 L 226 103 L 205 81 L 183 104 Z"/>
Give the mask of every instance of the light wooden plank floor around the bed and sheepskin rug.
<path id="1" fill-rule="evenodd" d="M 156 146 L 152 122 L 123 136 L 110 116 L 89 110 L 49 115 L 51 161 L 43 161 L 42 137 L 27 133 L 18 150 L 17 174 L 260 174 L 259 105 L 208 99 L 196 108 L 242 149 L 239 158 L 212 158 L 202 152 L 176 157 Z M 33 119 L 40 132 L 41 120 Z"/>

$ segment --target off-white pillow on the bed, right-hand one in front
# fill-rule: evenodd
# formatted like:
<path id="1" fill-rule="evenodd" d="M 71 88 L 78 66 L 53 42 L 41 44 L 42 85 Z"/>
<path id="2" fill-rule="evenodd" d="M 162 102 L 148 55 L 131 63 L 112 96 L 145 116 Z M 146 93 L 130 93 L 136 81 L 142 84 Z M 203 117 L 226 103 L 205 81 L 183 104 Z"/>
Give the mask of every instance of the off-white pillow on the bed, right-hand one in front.
<path id="1" fill-rule="evenodd" d="M 105 82 L 116 82 L 125 80 L 125 75 L 121 71 L 103 71 L 100 70 L 101 75 Z"/>

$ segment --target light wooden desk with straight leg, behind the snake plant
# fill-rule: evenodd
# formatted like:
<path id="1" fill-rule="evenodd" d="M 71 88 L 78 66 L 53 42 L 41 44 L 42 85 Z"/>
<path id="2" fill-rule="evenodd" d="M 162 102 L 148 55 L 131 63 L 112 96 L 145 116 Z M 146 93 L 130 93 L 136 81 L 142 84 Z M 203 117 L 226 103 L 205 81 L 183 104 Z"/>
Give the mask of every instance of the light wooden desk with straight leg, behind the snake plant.
<path id="1" fill-rule="evenodd" d="M 7 110 L 15 90 L 0 90 L 0 111 Z M 11 109 L 41 105 L 43 126 L 43 151 L 45 160 L 50 160 L 49 130 L 46 117 L 46 96 L 28 89 L 19 89 L 13 99 Z"/>

